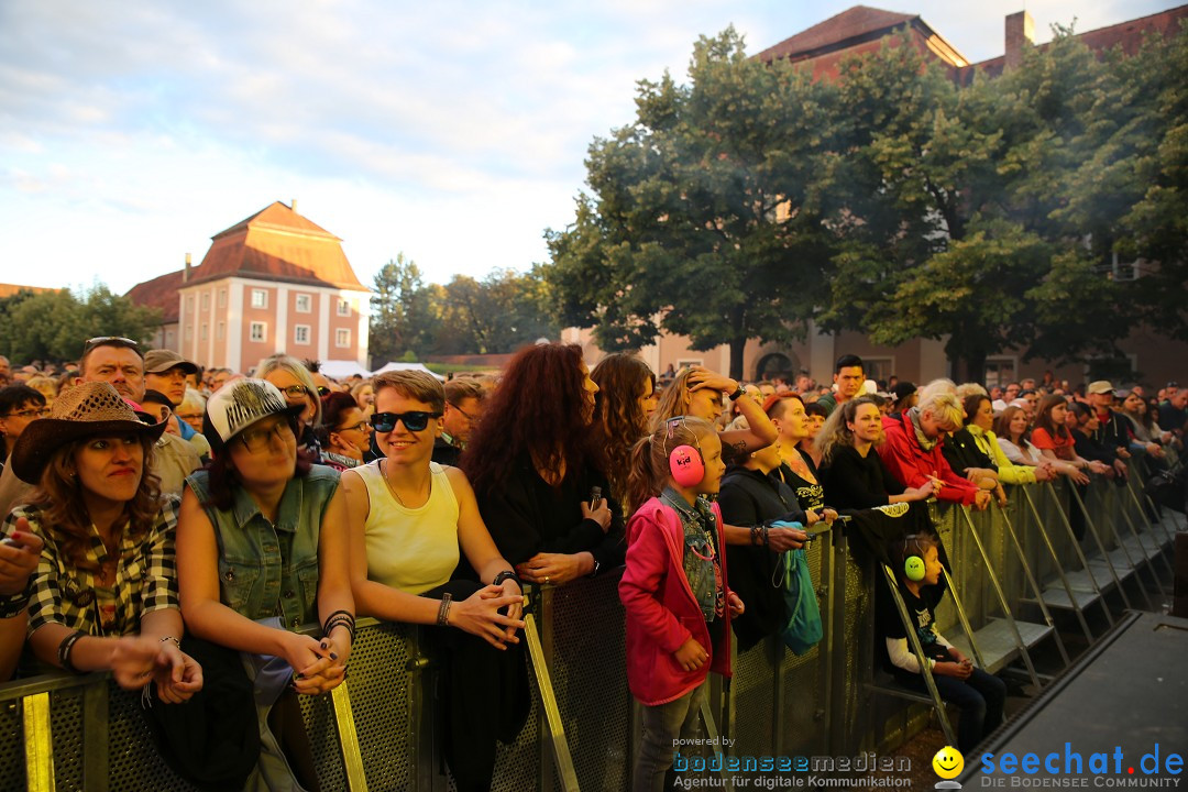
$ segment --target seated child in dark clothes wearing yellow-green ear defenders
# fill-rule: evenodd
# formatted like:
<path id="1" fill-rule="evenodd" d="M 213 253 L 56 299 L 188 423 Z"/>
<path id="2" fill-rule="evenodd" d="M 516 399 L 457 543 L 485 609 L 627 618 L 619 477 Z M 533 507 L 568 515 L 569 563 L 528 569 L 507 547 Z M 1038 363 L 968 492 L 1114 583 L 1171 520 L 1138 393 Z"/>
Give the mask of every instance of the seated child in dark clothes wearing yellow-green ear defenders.
<path id="1" fill-rule="evenodd" d="M 940 582 L 941 562 L 936 540 L 927 534 L 910 534 L 891 543 L 891 560 L 899 579 L 899 596 L 908 607 L 924 660 L 933 672 L 933 680 L 941 698 L 961 709 L 958 728 L 958 749 L 969 755 L 981 740 L 1003 722 L 1006 684 L 998 677 L 977 669 L 961 650 L 949 644 L 936 629 L 933 612 L 936 597 L 928 587 Z M 904 631 L 903 620 L 890 591 L 883 593 L 879 607 L 879 633 L 886 642 L 885 665 L 904 688 L 928 692 L 920 667 Z"/>

